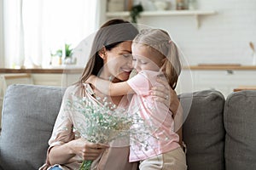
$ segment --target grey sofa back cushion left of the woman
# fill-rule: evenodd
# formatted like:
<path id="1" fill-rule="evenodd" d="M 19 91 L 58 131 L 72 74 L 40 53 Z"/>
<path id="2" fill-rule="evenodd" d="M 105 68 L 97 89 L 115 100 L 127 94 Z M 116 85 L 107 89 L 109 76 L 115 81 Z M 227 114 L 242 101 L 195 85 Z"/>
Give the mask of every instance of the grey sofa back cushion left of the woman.
<path id="1" fill-rule="evenodd" d="M 38 169 L 59 112 L 62 88 L 11 85 L 3 101 L 0 167 Z"/>

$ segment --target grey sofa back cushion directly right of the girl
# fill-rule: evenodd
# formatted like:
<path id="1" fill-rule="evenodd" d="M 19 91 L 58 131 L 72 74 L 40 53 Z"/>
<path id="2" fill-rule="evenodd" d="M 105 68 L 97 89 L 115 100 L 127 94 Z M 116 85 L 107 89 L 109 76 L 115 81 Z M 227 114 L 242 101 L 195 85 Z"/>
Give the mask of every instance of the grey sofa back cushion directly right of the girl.
<path id="1" fill-rule="evenodd" d="M 218 91 L 205 90 L 182 94 L 179 98 L 184 114 L 189 112 L 183 124 L 188 169 L 224 169 L 224 96 Z"/>

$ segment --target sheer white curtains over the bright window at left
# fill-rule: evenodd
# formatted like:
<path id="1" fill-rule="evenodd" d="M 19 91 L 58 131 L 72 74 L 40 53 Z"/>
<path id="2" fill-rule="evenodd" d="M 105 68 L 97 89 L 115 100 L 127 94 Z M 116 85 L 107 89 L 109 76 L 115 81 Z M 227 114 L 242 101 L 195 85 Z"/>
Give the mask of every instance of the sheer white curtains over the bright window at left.
<path id="1" fill-rule="evenodd" d="M 5 66 L 48 66 L 50 53 L 75 48 L 96 30 L 97 2 L 3 0 Z"/>

